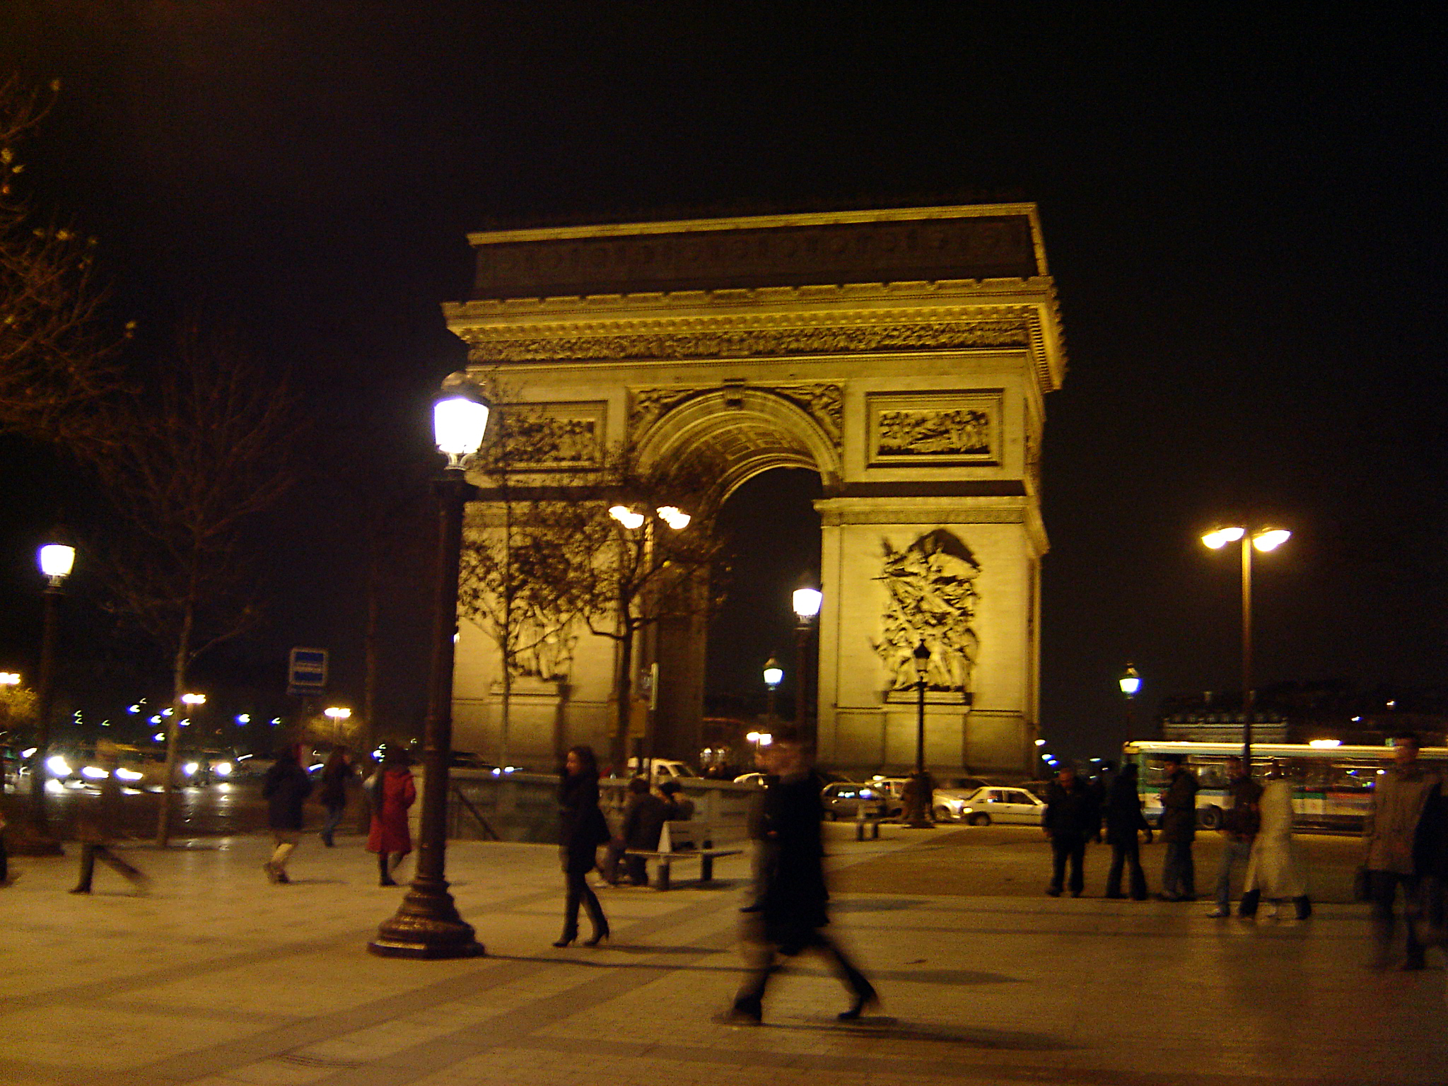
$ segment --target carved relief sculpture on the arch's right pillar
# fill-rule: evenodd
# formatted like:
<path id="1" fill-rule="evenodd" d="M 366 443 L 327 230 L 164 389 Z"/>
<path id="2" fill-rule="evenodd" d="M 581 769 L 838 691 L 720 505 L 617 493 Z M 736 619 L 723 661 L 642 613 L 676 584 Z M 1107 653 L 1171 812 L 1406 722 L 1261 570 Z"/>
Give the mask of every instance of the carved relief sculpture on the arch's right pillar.
<path id="1" fill-rule="evenodd" d="M 921 641 L 930 649 L 925 688 L 966 692 L 979 640 L 975 633 L 976 578 L 980 563 L 970 549 L 944 529 L 935 529 L 905 550 L 882 542 L 885 563 L 880 581 L 886 605 L 883 636 L 873 641 L 885 665 L 886 689 L 915 689 L 912 653 Z"/>

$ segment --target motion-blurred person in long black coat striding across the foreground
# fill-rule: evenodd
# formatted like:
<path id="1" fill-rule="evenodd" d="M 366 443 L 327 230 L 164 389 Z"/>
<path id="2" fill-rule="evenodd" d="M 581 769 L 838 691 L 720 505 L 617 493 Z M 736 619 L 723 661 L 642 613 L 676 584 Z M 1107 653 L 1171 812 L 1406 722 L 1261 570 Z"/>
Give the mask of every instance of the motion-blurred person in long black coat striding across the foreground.
<path id="1" fill-rule="evenodd" d="M 850 1006 L 840 1018 L 851 1021 L 879 1002 L 873 985 L 821 931 L 828 922 L 824 882 L 824 838 L 820 799 L 822 782 L 805 762 L 804 746 L 792 725 L 775 730 L 763 760 L 779 779 L 765 791 L 762 886 L 756 905 L 743 912 L 744 956 L 749 977 L 723 1021 L 757 1025 L 763 1021 L 765 986 L 778 969 L 776 954 L 795 957 L 805 950 L 822 954 L 850 989 Z"/>

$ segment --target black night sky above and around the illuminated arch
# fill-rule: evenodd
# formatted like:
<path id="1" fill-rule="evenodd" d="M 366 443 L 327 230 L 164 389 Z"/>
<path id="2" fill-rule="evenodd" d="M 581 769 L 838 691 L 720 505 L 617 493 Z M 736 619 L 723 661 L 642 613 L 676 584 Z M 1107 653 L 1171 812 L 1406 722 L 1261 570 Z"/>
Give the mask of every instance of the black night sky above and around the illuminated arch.
<path id="1" fill-rule="evenodd" d="M 7 0 L 0 74 L 64 81 L 32 184 L 117 307 L 220 300 L 333 450 L 426 442 L 471 229 L 1037 201 L 1070 352 L 1043 728 L 1087 754 L 1128 659 L 1148 705 L 1237 685 L 1219 515 L 1296 533 L 1260 565 L 1261 682 L 1436 682 L 1448 649 L 1442 9 L 1169 7 Z M 19 659 L 54 476 L 4 449 Z M 314 481 L 277 518 L 266 641 L 334 644 L 343 686 L 349 504 Z"/>

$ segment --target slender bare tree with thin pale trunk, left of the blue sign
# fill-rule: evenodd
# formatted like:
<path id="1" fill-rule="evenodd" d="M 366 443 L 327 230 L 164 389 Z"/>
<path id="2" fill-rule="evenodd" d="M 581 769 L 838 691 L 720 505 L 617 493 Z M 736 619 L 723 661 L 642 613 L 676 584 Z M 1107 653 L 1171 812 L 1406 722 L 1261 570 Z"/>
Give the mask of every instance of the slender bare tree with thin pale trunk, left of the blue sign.
<path id="1" fill-rule="evenodd" d="M 261 618 L 248 529 L 292 485 L 297 418 L 285 382 L 233 334 L 190 324 L 155 388 L 113 417 L 97 472 L 113 523 L 96 542 L 114 608 L 171 665 L 167 780 L 156 824 L 171 827 L 177 721 L 198 656 Z"/>

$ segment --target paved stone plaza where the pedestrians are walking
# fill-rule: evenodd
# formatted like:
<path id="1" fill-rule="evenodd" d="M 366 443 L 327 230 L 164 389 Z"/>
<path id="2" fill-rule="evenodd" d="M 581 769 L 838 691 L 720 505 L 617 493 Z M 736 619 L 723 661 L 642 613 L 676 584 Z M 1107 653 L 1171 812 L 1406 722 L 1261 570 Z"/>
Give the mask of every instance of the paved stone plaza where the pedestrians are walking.
<path id="1" fill-rule="evenodd" d="M 856 843 L 835 864 L 919 843 Z M 555 950 L 555 849 L 453 843 L 463 918 L 488 956 L 366 953 L 401 889 L 359 837 L 297 850 L 272 886 L 261 837 L 127 856 L 72 896 L 75 857 L 17 859 L 0 889 L 0 1083 L 1444 1083 L 1444 972 L 1373 973 L 1363 906 L 1310 921 L 1208 919 L 1205 905 L 841 893 L 833 934 L 883 1011 L 841 1025 L 840 985 L 805 959 L 763 1028 L 717 1025 L 740 979 L 738 891 L 601 891 L 613 941 Z M 410 873 L 404 867 L 404 876 Z M 688 869 L 685 869 L 686 873 Z M 928 866 L 919 885 L 930 888 Z M 585 924 L 586 934 L 586 924 Z"/>

